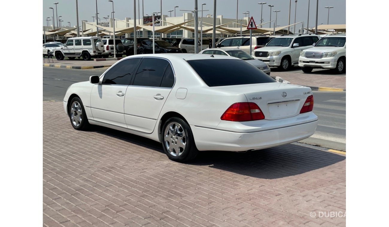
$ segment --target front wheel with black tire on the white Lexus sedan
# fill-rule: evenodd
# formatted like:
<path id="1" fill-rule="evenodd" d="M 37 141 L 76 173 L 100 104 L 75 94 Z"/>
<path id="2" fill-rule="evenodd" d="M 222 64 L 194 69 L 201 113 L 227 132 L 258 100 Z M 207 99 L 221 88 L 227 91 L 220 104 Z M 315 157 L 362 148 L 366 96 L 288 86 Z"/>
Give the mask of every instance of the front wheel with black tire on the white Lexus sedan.
<path id="1" fill-rule="evenodd" d="M 74 97 L 72 101 L 70 101 L 68 113 L 70 124 L 72 124 L 74 129 L 84 131 L 90 127 L 84 105 L 79 97 Z"/>

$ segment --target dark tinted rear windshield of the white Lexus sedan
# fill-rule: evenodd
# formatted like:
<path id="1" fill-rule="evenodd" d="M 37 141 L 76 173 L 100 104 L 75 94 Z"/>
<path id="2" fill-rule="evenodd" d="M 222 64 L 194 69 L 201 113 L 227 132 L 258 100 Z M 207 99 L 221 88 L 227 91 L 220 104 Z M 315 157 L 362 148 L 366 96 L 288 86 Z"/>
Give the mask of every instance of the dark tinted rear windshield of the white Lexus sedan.
<path id="1" fill-rule="evenodd" d="M 243 60 L 207 59 L 187 62 L 209 87 L 275 82 L 266 73 Z"/>

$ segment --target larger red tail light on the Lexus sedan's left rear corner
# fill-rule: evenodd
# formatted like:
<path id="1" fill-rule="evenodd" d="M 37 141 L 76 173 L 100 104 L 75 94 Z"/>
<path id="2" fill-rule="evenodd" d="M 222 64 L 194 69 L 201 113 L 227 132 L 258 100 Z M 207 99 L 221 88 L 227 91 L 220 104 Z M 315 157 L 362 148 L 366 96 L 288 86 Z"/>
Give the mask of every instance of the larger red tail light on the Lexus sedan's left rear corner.
<path id="1" fill-rule="evenodd" d="M 255 121 L 265 119 L 261 109 L 254 102 L 236 102 L 223 113 L 224 121 Z"/>

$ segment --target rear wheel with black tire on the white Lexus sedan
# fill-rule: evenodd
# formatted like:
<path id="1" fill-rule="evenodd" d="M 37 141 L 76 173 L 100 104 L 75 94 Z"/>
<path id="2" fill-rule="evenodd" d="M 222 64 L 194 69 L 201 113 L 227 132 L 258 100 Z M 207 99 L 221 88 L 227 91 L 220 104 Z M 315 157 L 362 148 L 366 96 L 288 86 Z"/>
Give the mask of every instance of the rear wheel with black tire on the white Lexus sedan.
<path id="1" fill-rule="evenodd" d="M 170 126 L 174 126 L 174 130 L 169 130 Z M 163 123 L 161 128 L 161 141 L 163 151 L 170 160 L 186 162 L 196 158 L 198 154 L 191 127 L 181 118 L 172 117 Z M 177 142 L 179 142 L 178 145 Z M 184 146 L 184 148 L 180 146 Z M 175 151 L 175 147 L 178 147 L 178 151 Z"/>

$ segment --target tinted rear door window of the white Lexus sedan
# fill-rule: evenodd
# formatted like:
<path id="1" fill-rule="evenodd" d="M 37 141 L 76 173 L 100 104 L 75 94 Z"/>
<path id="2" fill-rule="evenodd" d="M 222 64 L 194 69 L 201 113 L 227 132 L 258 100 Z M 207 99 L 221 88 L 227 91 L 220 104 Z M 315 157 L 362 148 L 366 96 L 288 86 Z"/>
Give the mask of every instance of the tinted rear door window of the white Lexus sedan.
<path id="1" fill-rule="evenodd" d="M 159 87 L 169 62 L 159 58 L 144 58 L 135 75 L 133 85 Z"/>

